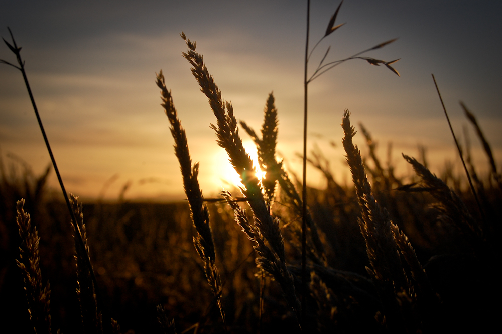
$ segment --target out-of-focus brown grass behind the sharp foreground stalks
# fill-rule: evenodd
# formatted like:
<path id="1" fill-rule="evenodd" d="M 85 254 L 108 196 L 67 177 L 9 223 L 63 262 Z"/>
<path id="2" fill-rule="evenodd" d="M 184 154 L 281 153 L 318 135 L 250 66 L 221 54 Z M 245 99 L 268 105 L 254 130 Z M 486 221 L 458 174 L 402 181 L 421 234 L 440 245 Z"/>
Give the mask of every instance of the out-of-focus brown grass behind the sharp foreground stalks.
<path id="1" fill-rule="evenodd" d="M 371 136 L 365 130 L 362 132 L 369 144 L 364 162 L 374 196 L 409 236 L 442 298 L 444 316 L 458 326 L 464 326 L 466 321 L 467 324 L 492 322 L 495 310 L 487 306 L 490 294 L 495 291 L 490 289 L 497 286 L 492 265 L 469 255 L 470 246 L 458 230 L 438 218 L 437 210 L 430 206 L 434 199 L 429 194 L 395 190 L 418 178 L 396 176 L 392 160 L 381 161 L 371 146 L 374 144 Z M 421 152 L 421 162 L 427 165 L 425 149 Z M 309 159 L 322 172 L 327 184 L 324 189 L 308 191 L 310 210 L 327 248 L 329 265 L 367 276 L 368 260 L 356 221 L 360 209 L 354 189 L 334 180 L 329 161 L 320 150 L 310 152 Z M 46 185 L 51 168 L 35 175 L 30 166 L 12 154 L 0 166 L 0 321 L 16 323 L 21 332 L 29 330 L 26 296 L 15 262 L 20 243 L 15 203 L 25 198 L 25 210 L 31 213 L 41 238 L 40 266 L 43 280 L 48 280 L 52 289 L 52 323 L 62 332 L 81 332 L 70 217 L 58 191 Z M 466 180 L 453 167 L 446 165 L 441 178 L 459 194 L 470 213 L 480 219 Z M 500 189 L 489 177 L 476 185 L 487 219 L 500 221 Z M 260 271 L 254 263 L 252 247 L 225 203 L 209 204 L 209 209 L 216 263 L 224 283 L 222 300 L 227 329 L 258 332 Z M 281 193 L 272 203 L 272 210 L 283 223 L 288 261 L 292 267 L 299 266 L 301 218 L 287 206 Z M 194 230 L 186 202 L 132 202 L 124 200 L 122 194 L 112 202 L 99 199 L 84 202 L 83 213 L 104 320 L 109 317 L 118 320 L 123 332 L 158 332 L 155 306 L 162 304 L 166 314 L 175 319 L 178 332 L 195 323 L 201 332 L 223 330 L 214 296 L 205 281 L 203 264 L 193 247 Z M 333 289 L 336 291 L 335 286 Z M 343 293 L 337 296 L 343 299 Z M 344 300 L 342 304 L 346 307 L 336 310 L 335 319 L 338 328 L 347 331 L 353 329 L 355 319 L 366 311 L 366 306 L 355 300 Z M 293 330 L 296 325 L 280 288 L 270 277 L 265 278 L 262 321 L 262 332 L 277 328 Z M 106 330 L 109 322 L 103 323 Z"/>

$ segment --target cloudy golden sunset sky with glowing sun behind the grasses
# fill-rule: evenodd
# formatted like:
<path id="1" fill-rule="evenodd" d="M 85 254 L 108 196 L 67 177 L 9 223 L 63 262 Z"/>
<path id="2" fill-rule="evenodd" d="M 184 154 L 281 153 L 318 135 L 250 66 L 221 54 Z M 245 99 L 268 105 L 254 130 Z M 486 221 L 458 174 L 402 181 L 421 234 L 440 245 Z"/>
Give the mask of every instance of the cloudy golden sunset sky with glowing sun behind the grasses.
<path id="1" fill-rule="evenodd" d="M 310 47 L 326 30 L 338 1 L 312 1 Z M 209 72 L 231 101 L 235 115 L 261 128 L 267 96 L 273 92 L 279 118 L 278 151 L 290 172 L 301 175 L 305 1 L 5 1 L 0 0 L 0 35 L 10 27 L 21 55 L 66 189 L 83 198 L 183 198 L 179 164 L 169 123 L 160 106 L 155 75 L 162 69 L 186 129 L 206 195 L 235 182 L 225 152 L 209 128 L 215 123 L 181 53 L 180 38 L 197 41 Z M 365 56 L 394 68 L 351 60 L 309 84 L 309 150 L 318 147 L 335 177 L 348 182 L 343 163 L 341 117 L 349 109 L 386 157 L 403 174 L 411 168 L 401 153 L 427 148 L 439 173 L 458 165 L 437 92 L 434 73 L 453 128 L 463 140 L 467 127 L 474 162 L 487 160 L 459 101 L 477 116 L 502 160 L 502 3 L 496 1 L 346 0 L 336 23 L 346 24 L 314 50 L 309 73 L 330 47 L 326 61 L 346 58 L 398 38 Z M 0 59 L 14 62 L 7 46 Z M 241 131 L 246 149 L 255 154 Z M 362 135 L 355 142 L 367 152 Z M 333 142 L 333 147 L 330 143 Z M 0 150 L 3 163 L 24 161 L 35 174 L 50 162 L 21 73 L 0 65 Z M 17 161 L 17 162 L 16 162 Z M 323 187 L 308 170 L 308 182 Z M 50 185 L 57 186 L 52 173 Z"/>

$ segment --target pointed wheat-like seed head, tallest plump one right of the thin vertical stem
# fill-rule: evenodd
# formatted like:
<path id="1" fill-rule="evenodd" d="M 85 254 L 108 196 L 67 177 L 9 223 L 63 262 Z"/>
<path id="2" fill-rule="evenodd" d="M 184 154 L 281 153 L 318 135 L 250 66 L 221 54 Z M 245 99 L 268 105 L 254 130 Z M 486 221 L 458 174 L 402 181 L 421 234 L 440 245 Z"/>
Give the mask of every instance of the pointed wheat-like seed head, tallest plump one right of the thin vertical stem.
<path id="1" fill-rule="evenodd" d="M 394 328 L 391 330 L 397 328 L 403 330 L 407 322 L 404 319 L 413 318 L 413 315 L 409 313 L 415 292 L 402 266 L 396 237 L 398 237 L 398 244 L 401 244 L 406 253 L 405 257 L 409 257 L 408 260 L 412 270 L 416 271 L 416 276 L 421 275 L 421 266 L 417 265 L 418 260 L 414 251 L 411 252 L 411 245 L 404 240 L 399 229 L 390 220 L 387 210 L 381 207 L 373 197 L 360 151 L 352 142 L 355 130 L 350 125 L 349 117 L 350 113 L 345 110 L 342 118 L 344 131 L 342 143 L 362 211 L 358 221 L 371 264 L 371 269 L 366 269 L 379 291 L 386 321 L 391 328 Z M 414 327 L 415 324 L 411 323 Z"/>

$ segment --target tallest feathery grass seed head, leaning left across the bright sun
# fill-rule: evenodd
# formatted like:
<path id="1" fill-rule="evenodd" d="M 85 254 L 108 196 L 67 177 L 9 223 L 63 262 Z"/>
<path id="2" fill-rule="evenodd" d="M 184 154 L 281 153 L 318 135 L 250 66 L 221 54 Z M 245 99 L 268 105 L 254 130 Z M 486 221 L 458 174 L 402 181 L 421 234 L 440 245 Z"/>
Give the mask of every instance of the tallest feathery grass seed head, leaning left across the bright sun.
<path id="1" fill-rule="evenodd" d="M 259 257 L 257 264 L 271 273 L 281 286 L 286 300 L 300 319 L 301 306 L 295 293 L 294 278 L 286 266 L 284 238 L 279 228 L 279 219 L 273 218 L 265 201 L 260 180 L 256 176 L 253 161 L 246 153 L 239 135 L 238 122 L 230 102 L 225 102 L 221 91 L 214 82 L 212 75 L 204 64 L 202 55 L 195 52 L 196 43 L 191 42 L 182 33 L 181 37 L 187 44 L 187 52 L 183 56 L 192 65 L 192 74 L 199 83 L 201 91 L 207 96 L 209 105 L 216 117 L 217 124 L 211 125 L 216 132 L 217 143 L 223 147 L 235 171 L 239 174 L 243 187 L 240 188 L 254 216 L 254 224 L 243 223 L 243 229 L 248 239 L 258 245 Z M 228 194 L 229 204 L 235 204 Z M 236 205 L 236 204 L 235 204 Z M 236 208 L 232 207 L 234 211 Z M 262 237 L 264 239 L 262 239 Z M 265 245 L 265 241 L 267 245 Z M 261 253 L 260 253 L 261 252 Z"/>

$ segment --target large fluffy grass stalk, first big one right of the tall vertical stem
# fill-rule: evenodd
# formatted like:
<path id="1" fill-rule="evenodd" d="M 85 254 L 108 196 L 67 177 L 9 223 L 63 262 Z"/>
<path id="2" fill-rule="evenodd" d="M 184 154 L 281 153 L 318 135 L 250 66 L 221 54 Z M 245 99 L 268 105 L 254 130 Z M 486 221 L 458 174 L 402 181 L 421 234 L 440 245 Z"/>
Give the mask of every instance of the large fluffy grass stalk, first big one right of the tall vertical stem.
<path id="1" fill-rule="evenodd" d="M 426 314 L 429 318 L 433 316 L 434 311 L 429 308 L 436 309 L 438 297 L 408 237 L 390 220 L 387 209 L 372 194 L 360 151 L 352 142 L 355 130 L 350 125 L 349 116 L 345 110 L 342 143 L 361 207 L 358 221 L 371 265 L 366 270 L 379 292 L 388 329 L 391 332 L 415 331 L 421 326 L 414 320 L 415 313 Z M 408 264 L 411 277 L 404 269 L 401 255 Z M 414 304 L 418 304 L 417 311 Z"/>

